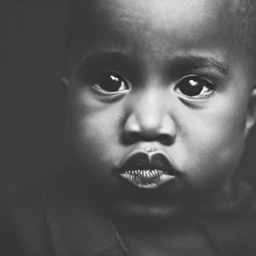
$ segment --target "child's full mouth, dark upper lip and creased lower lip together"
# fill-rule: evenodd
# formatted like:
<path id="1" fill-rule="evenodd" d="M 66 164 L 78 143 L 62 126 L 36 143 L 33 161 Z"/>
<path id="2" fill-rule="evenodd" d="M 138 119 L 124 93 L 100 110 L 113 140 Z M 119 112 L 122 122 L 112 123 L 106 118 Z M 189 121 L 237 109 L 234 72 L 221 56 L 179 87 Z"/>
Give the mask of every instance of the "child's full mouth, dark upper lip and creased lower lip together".
<path id="1" fill-rule="evenodd" d="M 163 152 L 135 151 L 118 169 L 119 176 L 138 188 L 153 189 L 170 182 L 179 174 Z"/>

